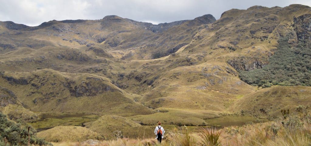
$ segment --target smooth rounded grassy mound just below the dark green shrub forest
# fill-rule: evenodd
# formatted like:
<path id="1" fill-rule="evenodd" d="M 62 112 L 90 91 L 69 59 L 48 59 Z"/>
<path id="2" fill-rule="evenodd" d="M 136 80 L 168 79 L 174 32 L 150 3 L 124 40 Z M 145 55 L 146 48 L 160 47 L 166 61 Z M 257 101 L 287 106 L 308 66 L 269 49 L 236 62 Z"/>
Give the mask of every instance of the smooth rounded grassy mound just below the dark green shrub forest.
<path id="1" fill-rule="evenodd" d="M 256 117 L 277 117 L 281 110 L 295 111 L 299 105 L 311 105 L 311 88 L 305 86 L 273 86 L 244 95 L 230 110 Z"/>

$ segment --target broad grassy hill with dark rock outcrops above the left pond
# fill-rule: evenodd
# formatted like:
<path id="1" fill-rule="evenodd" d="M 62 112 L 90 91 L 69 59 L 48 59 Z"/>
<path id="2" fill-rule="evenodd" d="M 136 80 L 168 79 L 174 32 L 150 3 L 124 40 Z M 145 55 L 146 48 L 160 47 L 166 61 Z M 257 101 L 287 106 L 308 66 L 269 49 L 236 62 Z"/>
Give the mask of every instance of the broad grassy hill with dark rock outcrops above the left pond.
<path id="1" fill-rule="evenodd" d="M 18 100 L 37 112 L 150 114 L 109 79 L 91 74 L 61 73 L 42 69 L 25 73 L 2 73 L 2 86 L 14 90 Z M 126 109 L 126 110 L 124 110 Z M 139 113 L 140 112 L 140 113 Z"/>

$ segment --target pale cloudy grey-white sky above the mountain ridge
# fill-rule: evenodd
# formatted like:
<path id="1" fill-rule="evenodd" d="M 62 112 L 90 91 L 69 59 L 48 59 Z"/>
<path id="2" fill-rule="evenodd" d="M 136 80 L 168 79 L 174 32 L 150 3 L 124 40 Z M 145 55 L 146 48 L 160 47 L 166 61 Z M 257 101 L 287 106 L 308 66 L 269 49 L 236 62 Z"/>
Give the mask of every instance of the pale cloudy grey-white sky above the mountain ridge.
<path id="1" fill-rule="evenodd" d="M 106 15 L 118 15 L 159 24 L 205 14 L 219 19 L 232 8 L 290 4 L 311 6 L 311 0 L 0 0 L 0 21 L 37 26 L 50 20 L 99 20 Z"/>

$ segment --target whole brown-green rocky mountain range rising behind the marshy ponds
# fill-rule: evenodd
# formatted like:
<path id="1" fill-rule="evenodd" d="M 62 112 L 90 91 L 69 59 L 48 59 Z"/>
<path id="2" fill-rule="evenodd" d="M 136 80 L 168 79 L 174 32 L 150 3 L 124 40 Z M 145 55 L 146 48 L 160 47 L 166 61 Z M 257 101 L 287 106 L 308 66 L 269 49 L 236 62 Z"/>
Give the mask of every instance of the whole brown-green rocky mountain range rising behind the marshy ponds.
<path id="1" fill-rule="evenodd" d="M 0 22 L 0 86 L 16 95 L 0 103 L 149 125 L 168 116 L 206 124 L 241 111 L 273 117 L 311 103 L 310 10 L 253 6 L 158 25 L 116 15 Z"/>

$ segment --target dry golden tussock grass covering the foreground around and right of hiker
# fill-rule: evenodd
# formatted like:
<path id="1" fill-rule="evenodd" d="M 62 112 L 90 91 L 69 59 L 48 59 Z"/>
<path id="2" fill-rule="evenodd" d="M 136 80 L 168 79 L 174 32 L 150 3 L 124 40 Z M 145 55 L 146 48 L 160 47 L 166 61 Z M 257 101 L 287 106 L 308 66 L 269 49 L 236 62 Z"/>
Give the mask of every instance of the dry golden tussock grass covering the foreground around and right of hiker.
<path id="1" fill-rule="evenodd" d="M 295 114 L 272 122 L 232 126 L 222 129 L 204 128 L 191 131 L 187 126 L 168 131 L 161 145 L 164 146 L 306 146 L 311 144 L 311 116 L 309 107 L 298 106 Z M 57 144 L 54 144 L 57 145 Z M 67 144 L 80 146 L 81 143 Z M 156 139 L 117 139 L 102 141 L 99 146 L 157 146 Z"/>

